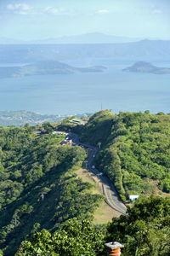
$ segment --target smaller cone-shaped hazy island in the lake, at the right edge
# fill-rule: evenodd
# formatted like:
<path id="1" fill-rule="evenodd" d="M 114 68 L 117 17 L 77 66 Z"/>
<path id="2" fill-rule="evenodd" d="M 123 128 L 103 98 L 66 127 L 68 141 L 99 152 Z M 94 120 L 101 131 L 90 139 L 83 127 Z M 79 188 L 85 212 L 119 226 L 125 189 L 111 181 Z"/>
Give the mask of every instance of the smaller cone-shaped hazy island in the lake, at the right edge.
<path id="1" fill-rule="evenodd" d="M 134 63 L 133 66 L 122 69 L 122 71 L 135 73 L 170 74 L 170 67 L 156 67 L 149 62 L 138 61 Z"/>

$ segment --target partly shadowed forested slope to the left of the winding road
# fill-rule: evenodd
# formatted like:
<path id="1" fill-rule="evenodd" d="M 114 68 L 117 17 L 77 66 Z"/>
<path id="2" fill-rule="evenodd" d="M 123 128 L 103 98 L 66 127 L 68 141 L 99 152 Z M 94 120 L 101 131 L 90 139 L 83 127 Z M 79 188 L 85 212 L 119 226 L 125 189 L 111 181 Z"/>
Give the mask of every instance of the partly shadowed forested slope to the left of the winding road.
<path id="1" fill-rule="evenodd" d="M 90 193 L 74 170 L 86 152 L 61 146 L 64 135 L 37 135 L 35 127 L 0 128 L 0 244 L 14 255 L 37 230 L 52 233 L 71 218 L 92 218 L 101 195 Z"/>

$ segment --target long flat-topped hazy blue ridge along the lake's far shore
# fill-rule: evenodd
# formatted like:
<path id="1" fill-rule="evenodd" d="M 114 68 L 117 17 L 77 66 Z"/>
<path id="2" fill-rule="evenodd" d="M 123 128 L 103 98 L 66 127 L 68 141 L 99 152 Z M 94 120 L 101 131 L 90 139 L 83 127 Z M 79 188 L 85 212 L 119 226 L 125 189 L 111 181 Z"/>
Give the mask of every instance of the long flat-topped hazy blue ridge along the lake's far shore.
<path id="1" fill-rule="evenodd" d="M 122 44 L 0 44 L 2 63 L 68 61 L 84 58 L 114 58 L 135 61 L 143 58 L 169 60 L 170 40 L 142 40 Z"/>

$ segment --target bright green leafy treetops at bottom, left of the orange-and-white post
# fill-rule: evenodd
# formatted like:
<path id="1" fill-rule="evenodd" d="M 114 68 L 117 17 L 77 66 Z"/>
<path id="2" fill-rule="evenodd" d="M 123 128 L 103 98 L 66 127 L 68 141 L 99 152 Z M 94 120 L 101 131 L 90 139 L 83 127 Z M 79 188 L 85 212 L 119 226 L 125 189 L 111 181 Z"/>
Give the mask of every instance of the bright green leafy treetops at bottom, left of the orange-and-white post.
<path id="1" fill-rule="evenodd" d="M 54 235 L 42 230 L 31 236 L 30 241 L 22 242 L 15 256 L 101 255 L 104 236 L 105 231 L 97 230 L 89 221 L 78 222 L 77 219 L 71 219 Z"/>

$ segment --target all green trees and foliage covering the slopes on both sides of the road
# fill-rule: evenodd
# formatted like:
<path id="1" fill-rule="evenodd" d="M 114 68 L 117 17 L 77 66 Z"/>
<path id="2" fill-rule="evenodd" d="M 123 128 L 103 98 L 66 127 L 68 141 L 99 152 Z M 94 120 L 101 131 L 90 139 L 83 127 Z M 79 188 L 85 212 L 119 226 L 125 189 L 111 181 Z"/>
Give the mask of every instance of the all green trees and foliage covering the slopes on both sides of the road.
<path id="1" fill-rule="evenodd" d="M 170 115 L 105 110 L 86 125 L 70 119 L 57 127 L 98 146 L 95 166 L 122 200 L 133 194 L 139 200 L 126 216 L 94 225 L 103 196 L 75 172 L 86 151 L 62 146 L 65 135 L 53 134 L 48 122 L 41 133 L 30 125 L 0 127 L 0 255 L 104 256 L 105 242 L 120 241 L 122 256 L 168 256 L 170 197 L 149 195 L 170 192 Z"/>

